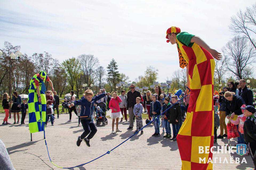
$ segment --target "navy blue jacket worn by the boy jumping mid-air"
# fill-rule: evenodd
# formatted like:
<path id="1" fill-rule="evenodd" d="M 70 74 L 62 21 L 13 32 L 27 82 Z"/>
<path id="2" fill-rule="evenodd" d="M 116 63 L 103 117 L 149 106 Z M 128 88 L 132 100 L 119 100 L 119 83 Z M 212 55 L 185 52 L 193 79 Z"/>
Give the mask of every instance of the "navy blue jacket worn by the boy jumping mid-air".
<path id="1" fill-rule="evenodd" d="M 90 118 L 91 115 L 93 115 L 93 104 L 94 101 L 97 101 L 103 97 L 106 96 L 106 93 L 103 93 L 101 95 L 98 96 L 94 96 L 91 101 L 88 101 L 87 99 L 85 99 L 84 97 L 82 97 L 80 100 L 75 100 L 72 101 L 71 103 L 74 103 L 74 105 L 81 105 L 81 112 L 80 112 L 80 118 L 81 119 L 86 119 L 86 118 Z"/>

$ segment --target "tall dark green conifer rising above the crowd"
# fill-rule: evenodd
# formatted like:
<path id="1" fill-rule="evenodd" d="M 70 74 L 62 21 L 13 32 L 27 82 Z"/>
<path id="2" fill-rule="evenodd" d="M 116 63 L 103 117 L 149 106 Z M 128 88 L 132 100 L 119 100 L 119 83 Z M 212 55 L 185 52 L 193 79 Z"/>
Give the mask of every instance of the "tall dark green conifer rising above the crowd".
<path id="1" fill-rule="evenodd" d="M 112 58 L 109 65 L 107 66 L 107 83 L 109 84 L 111 91 L 115 89 L 115 86 L 120 79 L 120 74 L 117 70 L 117 62 L 115 62 L 114 58 Z"/>

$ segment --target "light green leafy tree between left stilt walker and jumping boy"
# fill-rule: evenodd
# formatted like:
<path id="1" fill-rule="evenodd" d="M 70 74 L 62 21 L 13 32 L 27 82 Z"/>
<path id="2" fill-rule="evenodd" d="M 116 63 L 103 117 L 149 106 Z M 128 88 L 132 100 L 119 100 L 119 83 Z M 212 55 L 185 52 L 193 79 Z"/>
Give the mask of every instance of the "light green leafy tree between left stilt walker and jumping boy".
<path id="1" fill-rule="evenodd" d="M 75 57 L 72 57 L 63 61 L 62 65 L 66 70 L 67 80 L 70 84 L 71 90 L 74 90 L 74 86 L 80 72 L 80 63 Z"/>

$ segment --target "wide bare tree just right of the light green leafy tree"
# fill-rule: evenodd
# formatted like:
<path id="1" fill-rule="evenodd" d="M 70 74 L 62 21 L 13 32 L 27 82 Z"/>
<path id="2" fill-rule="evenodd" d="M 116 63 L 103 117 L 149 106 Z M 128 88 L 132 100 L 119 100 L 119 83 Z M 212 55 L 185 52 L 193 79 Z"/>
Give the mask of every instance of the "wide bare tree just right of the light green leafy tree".
<path id="1" fill-rule="evenodd" d="M 85 83 L 92 84 L 94 83 L 93 77 L 94 72 L 98 67 L 99 60 L 97 57 L 94 57 L 91 54 L 81 54 L 78 56 L 79 62 L 81 64 L 81 70 L 85 79 Z"/>

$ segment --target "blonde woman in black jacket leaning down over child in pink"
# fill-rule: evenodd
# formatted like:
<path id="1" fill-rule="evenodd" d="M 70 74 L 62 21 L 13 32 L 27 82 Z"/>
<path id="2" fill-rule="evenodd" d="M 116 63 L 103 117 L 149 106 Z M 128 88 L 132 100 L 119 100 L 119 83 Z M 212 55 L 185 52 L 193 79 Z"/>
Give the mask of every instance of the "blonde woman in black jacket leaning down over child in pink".
<path id="1" fill-rule="evenodd" d="M 225 105 L 227 119 L 229 119 L 230 117 L 233 118 L 235 114 L 243 114 L 241 111 L 241 106 L 245 104 L 245 102 L 243 101 L 241 96 L 234 95 L 230 91 L 225 92 L 224 96 L 226 98 Z"/>

